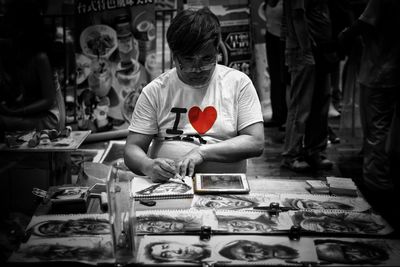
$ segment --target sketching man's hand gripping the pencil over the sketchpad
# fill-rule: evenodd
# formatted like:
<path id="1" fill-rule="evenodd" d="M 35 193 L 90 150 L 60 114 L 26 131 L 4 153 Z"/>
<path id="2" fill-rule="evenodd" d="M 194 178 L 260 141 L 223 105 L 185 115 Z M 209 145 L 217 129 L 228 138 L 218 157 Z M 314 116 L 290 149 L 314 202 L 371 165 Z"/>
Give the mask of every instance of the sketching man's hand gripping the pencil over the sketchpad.
<path id="1" fill-rule="evenodd" d="M 175 162 L 171 159 L 156 158 L 146 166 L 144 174 L 151 177 L 153 182 L 166 182 L 175 176 Z"/>

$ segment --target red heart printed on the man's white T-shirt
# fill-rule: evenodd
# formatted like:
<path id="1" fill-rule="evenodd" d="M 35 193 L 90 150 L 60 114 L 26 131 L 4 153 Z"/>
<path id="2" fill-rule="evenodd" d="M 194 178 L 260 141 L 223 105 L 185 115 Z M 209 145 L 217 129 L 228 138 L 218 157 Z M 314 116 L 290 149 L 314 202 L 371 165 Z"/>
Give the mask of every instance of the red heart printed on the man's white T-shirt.
<path id="1" fill-rule="evenodd" d="M 205 134 L 210 130 L 216 119 L 217 110 L 212 106 L 206 107 L 204 111 L 201 111 L 197 106 L 189 110 L 190 124 L 199 134 Z"/>

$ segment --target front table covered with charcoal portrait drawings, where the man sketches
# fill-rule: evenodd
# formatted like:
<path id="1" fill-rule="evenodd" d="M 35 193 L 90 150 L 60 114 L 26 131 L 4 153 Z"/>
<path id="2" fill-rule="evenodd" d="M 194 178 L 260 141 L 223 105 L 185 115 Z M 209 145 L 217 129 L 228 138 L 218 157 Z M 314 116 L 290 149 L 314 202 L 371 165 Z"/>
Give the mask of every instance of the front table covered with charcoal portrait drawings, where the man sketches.
<path id="1" fill-rule="evenodd" d="M 360 195 L 316 195 L 308 192 L 305 181 L 266 177 L 247 177 L 247 194 L 197 194 L 189 177 L 157 184 L 147 177 L 121 180 L 122 173 L 110 168 L 107 213 L 34 216 L 27 242 L 10 262 L 400 263 L 400 240 L 393 228 Z"/>

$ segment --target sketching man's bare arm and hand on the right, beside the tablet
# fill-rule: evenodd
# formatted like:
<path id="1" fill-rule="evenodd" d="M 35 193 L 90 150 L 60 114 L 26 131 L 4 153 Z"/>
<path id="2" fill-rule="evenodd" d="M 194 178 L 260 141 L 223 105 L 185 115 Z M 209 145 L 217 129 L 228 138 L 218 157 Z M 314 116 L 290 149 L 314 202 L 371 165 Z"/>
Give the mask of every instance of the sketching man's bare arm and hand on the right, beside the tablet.
<path id="1" fill-rule="evenodd" d="M 260 156 L 263 150 L 264 125 L 258 122 L 239 131 L 236 137 L 191 150 L 178 162 L 177 170 L 180 175 L 192 176 L 195 166 L 204 161 L 235 162 Z"/>

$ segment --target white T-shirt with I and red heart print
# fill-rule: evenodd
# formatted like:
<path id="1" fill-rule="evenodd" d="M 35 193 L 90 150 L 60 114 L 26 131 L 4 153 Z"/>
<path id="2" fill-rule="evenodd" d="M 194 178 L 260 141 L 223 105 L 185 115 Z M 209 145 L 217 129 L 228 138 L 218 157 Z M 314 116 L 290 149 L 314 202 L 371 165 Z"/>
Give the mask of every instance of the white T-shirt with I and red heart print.
<path id="1" fill-rule="evenodd" d="M 128 129 L 155 136 L 152 157 L 160 157 L 154 151 L 168 143 L 174 148 L 169 158 L 179 158 L 195 144 L 230 139 L 245 127 L 262 121 L 260 101 L 250 78 L 238 70 L 217 65 L 204 89 L 183 83 L 175 68 L 154 79 L 143 88 Z M 171 140 L 174 141 L 166 142 Z"/>

